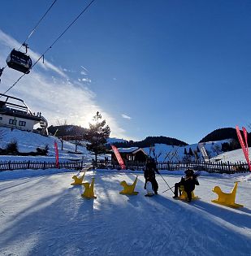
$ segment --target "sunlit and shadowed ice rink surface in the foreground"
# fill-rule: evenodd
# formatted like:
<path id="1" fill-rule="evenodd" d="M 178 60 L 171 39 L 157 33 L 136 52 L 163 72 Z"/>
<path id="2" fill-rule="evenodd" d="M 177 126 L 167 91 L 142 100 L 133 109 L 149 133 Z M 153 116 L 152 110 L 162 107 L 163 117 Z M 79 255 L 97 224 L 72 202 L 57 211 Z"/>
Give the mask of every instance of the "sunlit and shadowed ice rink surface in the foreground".
<path id="1" fill-rule="evenodd" d="M 236 178 L 200 176 L 188 204 L 161 193 L 144 197 L 144 177 L 137 196 L 120 195 L 119 182 L 133 174 L 95 176 L 96 200 L 71 187 L 72 173 L 0 181 L 0 255 L 243 255 L 251 252 L 251 183 L 239 184 L 240 210 L 215 205 L 215 185 L 230 191 Z M 180 176 L 163 176 L 172 185 Z"/>

